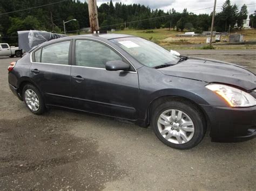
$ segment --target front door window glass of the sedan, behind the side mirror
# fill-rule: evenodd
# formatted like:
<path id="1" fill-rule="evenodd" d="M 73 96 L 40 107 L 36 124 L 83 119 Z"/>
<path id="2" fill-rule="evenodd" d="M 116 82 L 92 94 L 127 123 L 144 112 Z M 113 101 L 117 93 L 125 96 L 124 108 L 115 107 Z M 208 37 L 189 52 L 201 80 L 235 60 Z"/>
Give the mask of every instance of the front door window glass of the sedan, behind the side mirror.
<path id="1" fill-rule="evenodd" d="M 111 48 L 92 40 L 76 40 L 76 65 L 105 68 L 108 61 L 122 60 Z"/>

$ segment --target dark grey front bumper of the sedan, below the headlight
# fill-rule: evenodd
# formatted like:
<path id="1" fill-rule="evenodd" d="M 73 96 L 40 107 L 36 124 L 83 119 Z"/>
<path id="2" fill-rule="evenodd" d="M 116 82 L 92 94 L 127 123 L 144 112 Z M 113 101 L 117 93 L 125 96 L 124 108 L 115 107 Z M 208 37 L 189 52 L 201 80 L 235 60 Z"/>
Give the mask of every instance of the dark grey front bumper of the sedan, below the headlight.
<path id="1" fill-rule="evenodd" d="M 210 122 L 213 142 L 242 142 L 256 137 L 256 106 L 249 108 L 201 105 Z"/>

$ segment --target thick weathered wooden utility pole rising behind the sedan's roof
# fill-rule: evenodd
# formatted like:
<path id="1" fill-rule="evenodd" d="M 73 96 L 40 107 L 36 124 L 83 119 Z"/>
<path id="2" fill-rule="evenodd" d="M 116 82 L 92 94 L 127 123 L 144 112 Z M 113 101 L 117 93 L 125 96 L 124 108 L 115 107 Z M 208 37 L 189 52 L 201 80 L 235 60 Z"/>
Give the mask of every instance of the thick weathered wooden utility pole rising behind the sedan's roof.
<path id="1" fill-rule="evenodd" d="M 91 33 L 99 30 L 97 0 L 88 0 L 89 20 Z"/>

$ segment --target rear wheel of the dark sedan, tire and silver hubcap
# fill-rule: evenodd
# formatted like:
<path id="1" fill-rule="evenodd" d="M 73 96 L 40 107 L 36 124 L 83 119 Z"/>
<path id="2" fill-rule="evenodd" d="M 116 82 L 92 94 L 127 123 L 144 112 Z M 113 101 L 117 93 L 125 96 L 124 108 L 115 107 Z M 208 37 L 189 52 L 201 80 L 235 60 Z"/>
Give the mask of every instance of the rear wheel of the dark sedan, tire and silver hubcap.
<path id="1" fill-rule="evenodd" d="M 26 107 L 33 114 L 41 115 L 45 112 L 46 109 L 43 96 L 35 86 L 33 86 L 32 84 L 26 84 L 23 88 L 22 95 Z"/>

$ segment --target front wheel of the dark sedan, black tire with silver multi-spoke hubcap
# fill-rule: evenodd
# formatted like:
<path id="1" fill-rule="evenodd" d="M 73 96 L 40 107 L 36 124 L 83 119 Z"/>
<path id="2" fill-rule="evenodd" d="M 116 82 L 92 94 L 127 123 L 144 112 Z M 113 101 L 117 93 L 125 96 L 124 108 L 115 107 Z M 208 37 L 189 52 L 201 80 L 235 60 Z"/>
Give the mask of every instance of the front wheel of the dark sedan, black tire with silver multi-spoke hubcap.
<path id="1" fill-rule="evenodd" d="M 204 115 L 196 105 L 179 98 L 154 105 L 156 106 L 152 108 L 151 126 L 161 142 L 180 150 L 192 148 L 201 142 L 205 135 L 206 123 Z M 162 117 L 167 117 L 166 121 Z M 170 124 L 167 124 L 169 122 Z"/>

